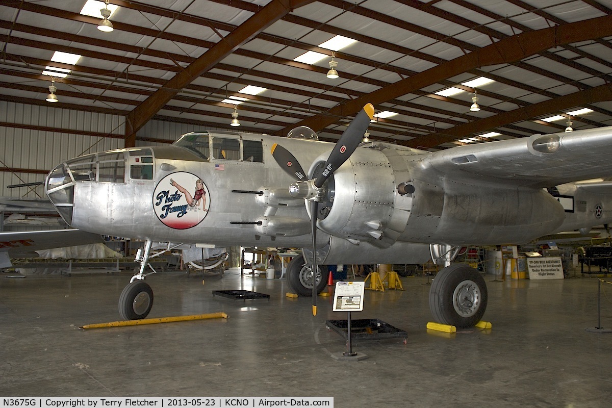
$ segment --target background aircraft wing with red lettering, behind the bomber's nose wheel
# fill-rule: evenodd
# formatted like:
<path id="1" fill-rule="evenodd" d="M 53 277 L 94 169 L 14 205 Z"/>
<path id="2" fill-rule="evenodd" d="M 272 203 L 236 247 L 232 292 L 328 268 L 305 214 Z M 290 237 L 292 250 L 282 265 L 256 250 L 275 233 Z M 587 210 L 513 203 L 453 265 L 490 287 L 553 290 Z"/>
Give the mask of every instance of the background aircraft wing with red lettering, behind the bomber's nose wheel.
<path id="1" fill-rule="evenodd" d="M 102 236 L 78 229 L 50 231 L 0 232 L 0 252 L 8 252 L 12 258 L 32 256 L 34 251 L 50 248 L 73 247 L 102 242 Z"/>

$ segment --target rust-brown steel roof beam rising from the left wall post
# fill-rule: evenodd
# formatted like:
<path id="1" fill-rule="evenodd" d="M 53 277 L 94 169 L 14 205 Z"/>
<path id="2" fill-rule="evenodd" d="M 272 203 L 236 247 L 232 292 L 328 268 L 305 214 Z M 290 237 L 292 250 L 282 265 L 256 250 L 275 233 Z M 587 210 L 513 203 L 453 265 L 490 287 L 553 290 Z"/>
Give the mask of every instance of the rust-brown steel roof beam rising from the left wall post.
<path id="1" fill-rule="evenodd" d="M 177 73 L 174 78 L 166 82 L 160 89 L 146 98 L 140 105 L 136 106 L 127 116 L 125 126 L 125 147 L 135 146 L 136 132 L 146 124 L 163 106 L 169 102 L 174 95 L 185 86 L 192 83 L 204 72 L 212 69 L 226 56 L 240 48 L 245 42 L 251 40 L 259 32 L 269 27 L 272 23 L 283 18 L 287 13 L 297 7 L 304 6 L 314 0 L 272 0 L 263 9 L 253 14 L 247 21 L 242 23 L 225 38 L 216 43 L 212 48 L 202 54 L 192 64 Z"/>

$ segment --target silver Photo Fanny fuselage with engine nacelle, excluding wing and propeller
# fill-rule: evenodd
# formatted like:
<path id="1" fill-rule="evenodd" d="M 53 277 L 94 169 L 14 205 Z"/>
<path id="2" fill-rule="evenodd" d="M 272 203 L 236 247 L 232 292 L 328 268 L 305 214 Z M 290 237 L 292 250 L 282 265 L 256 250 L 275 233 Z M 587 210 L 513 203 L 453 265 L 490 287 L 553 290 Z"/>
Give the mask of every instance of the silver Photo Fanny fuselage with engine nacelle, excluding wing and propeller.
<path id="1" fill-rule="evenodd" d="M 295 180 L 271 150 L 282 145 L 313 174 L 332 144 L 222 132 L 195 138 L 204 153 L 149 147 L 67 161 L 50 173 L 48 195 L 67 223 L 88 232 L 217 247 L 312 245 L 307 206 L 289 195 Z M 233 156 L 219 147 L 222 141 L 235 146 Z M 432 171 L 422 165 L 429 154 L 384 143 L 357 148 L 329 180 L 319 206 L 322 263 L 419 263 L 429 258 L 430 243 L 524 243 L 611 218 L 595 211 L 605 195 L 560 187 L 578 203 L 569 211 L 541 187 Z"/>

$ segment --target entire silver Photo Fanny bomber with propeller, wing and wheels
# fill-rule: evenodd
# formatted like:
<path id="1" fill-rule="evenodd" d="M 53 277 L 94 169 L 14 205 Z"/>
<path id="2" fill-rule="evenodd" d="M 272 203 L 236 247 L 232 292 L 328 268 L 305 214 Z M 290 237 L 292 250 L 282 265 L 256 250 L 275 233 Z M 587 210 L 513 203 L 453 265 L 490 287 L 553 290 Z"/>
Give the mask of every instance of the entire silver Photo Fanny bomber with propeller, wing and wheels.
<path id="1" fill-rule="evenodd" d="M 612 182 L 592 180 L 612 174 L 610 127 L 427 152 L 360 143 L 373 112 L 368 104 L 336 144 L 299 127 L 287 138 L 193 132 L 171 146 L 84 155 L 54 168 L 45 189 L 72 228 L 145 241 L 119 299 L 125 319 L 151 310 L 151 243 L 182 242 L 303 248 L 286 281 L 314 294 L 313 313 L 326 286 L 318 265 L 433 256 L 448 265 L 431 286 L 433 316 L 469 327 L 485 313 L 487 287 L 468 265 L 450 265 L 453 247 L 521 244 L 612 220 Z"/>

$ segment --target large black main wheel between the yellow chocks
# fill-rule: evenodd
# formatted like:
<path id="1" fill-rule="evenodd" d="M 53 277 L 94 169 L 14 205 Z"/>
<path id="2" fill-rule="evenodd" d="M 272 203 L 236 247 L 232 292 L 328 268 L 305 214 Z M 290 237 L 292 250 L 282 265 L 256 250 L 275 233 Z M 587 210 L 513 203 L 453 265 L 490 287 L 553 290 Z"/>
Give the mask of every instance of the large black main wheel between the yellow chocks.
<path id="1" fill-rule="evenodd" d="M 429 292 L 431 314 L 438 323 L 472 327 L 487 309 L 487 284 L 468 265 L 455 264 L 442 269 Z"/>

